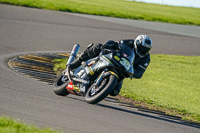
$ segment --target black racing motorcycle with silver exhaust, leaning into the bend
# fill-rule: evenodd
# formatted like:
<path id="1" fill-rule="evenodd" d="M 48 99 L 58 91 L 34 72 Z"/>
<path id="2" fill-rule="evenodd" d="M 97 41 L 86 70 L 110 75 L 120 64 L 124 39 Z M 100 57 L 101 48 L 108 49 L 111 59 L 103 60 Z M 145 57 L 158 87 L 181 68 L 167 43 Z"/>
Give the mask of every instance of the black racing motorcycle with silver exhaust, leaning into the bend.
<path id="1" fill-rule="evenodd" d="M 133 50 L 120 44 L 115 50 L 104 49 L 98 57 L 92 58 L 75 70 L 68 64 L 77 57 L 80 45 L 74 45 L 66 69 L 56 78 L 54 92 L 60 96 L 74 94 L 84 96 L 87 103 L 96 104 L 107 97 L 124 78 L 133 75 Z"/>

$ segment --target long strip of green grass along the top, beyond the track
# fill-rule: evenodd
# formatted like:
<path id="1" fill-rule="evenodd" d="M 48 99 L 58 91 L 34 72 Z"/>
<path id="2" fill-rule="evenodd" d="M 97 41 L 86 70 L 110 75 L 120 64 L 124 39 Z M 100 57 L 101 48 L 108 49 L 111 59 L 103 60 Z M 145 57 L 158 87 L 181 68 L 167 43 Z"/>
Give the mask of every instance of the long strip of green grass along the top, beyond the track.
<path id="1" fill-rule="evenodd" d="M 125 0 L 0 0 L 0 3 L 128 19 L 200 25 L 200 8 Z"/>

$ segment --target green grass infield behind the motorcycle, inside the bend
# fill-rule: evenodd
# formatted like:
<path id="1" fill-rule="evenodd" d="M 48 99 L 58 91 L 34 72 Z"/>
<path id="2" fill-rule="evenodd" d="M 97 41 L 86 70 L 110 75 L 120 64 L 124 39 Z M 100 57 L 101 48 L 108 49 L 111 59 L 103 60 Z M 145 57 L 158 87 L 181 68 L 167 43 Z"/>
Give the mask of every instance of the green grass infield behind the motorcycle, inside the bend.
<path id="1" fill-rule="evenodd" d="M 66 60 L 55 60 L 55 71 Z M 125 79 L 120 95 L 139 106 L 156 108 L 200 122 L 200 56 L 151 55 L 142 79 Z"/>

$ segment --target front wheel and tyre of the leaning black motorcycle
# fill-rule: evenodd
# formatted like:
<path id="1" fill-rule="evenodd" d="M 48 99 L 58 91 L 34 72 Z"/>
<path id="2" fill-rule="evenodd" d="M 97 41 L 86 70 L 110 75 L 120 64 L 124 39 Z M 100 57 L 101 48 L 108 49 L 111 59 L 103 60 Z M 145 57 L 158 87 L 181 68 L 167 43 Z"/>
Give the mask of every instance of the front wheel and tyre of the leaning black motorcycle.
<path id="1" fill-rule="evenodd" d="M 93 83 L 85 95 L 86 102 L 96 104 L 103 100 L 112 92 L 117 81 L 117 77 L 111 74 L 110 76 L 105 77 L 99 86 L 95 86 L 95 83 Z"/>

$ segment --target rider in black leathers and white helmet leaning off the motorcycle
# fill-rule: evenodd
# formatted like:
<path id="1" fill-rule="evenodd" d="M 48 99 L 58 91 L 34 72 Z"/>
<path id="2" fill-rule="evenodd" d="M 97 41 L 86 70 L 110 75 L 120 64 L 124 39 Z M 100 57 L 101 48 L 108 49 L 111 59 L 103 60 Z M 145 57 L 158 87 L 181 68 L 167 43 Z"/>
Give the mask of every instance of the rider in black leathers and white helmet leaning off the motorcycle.
<path id="1" fill-rule="evenodd" d="M 109 40 L 104 44 L 93 43 L 87 46 L 87 49 L 83 51 L 80 56 L 71 64 L 68 65 L 70 70 L 78 68 L 82 61 L 89 60 L 91 58 L 97 57 L 103 49 L 117 49 L 119 44 L 125 44 L 129 46 L 135 52 L 135 60 L 133 63 L 134 75 L 131 78 L 140 79 L 142 78 L 145 70 L 150 63 L 149 51 L 152 48 L 152 40 L 147 35 L 139 35 L 135 40 L 124 39 L 120 41 Z M 119 94 L 123 81 L 119 82 L 115 89 L 111 92 L 111 96 L 116 96 Z"/>

